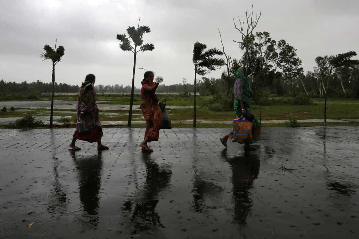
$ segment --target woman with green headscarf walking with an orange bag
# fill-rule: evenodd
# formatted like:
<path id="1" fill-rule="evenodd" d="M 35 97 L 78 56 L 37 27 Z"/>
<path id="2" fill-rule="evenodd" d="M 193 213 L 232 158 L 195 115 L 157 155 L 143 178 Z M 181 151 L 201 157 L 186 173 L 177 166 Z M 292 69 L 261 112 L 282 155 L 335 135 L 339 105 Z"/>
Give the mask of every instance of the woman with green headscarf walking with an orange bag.
<path id="1" fill-rule="evenodd" d="M 253 117 L 251 114 L 250 109 L 250 98 L 252 96 L 252 88 L 251 88 L 251 82 L 247 79 L 247 70 L 244 66 L 238 68 L 236 72 L 234 72 L 234 75 L 236 75 L 236 82 L 234 82 L 234 103 L 233 103 L 233 109 L 236 113 L 237 118 L 241 119 L 243 117 L 248 118 L 248 116 Z M 254 118 L 254 117 L 253 117 Z M 248 135 L 248 141 L 246 145 L 250 143 L 255 143 L 258 140 L 260 140 L 260 130 L 261 125 L 259 124 L 258 119 L 247 119 L 252 121 L 253 120 L 253 128 L 252 133 Z M 227 140 L 233 139 L 233 129 L 230 130 L 224 137 L 220 138 L 220 141 L 222 142 L 223 146 L 227 148 Z"/>

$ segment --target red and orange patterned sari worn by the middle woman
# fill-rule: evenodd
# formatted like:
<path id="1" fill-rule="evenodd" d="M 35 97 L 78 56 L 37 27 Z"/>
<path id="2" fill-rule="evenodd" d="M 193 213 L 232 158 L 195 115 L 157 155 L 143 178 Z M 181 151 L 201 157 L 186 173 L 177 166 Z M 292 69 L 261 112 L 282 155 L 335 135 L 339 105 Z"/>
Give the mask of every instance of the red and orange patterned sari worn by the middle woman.
<path id="1" fill-rule="evenodd" d="M 143 81 L 141 88 L 141 111 L 146 120 L 145 137 L 148 142 L 158 141 L 160 123 L 162 121 L 162 110 L 158 106 L 158 99 L 154 91 L 145 91 L 145 87 L 155 87 L 156 82 Z"/>

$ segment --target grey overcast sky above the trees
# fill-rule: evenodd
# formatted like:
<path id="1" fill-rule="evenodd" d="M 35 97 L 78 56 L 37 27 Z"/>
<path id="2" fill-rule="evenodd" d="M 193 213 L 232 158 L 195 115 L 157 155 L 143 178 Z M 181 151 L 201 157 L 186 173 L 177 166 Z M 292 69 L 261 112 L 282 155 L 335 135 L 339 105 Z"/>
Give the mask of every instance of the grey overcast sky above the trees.
<path id="1" fill-rule="evenodd" d="M 131 84 L 132 52 L 123 52 L 116 39 L 128 26 L 150 26 L 145 42 L 154 51 L 139 52 L 136 68 L 153 70 L 164 84 L 192 82 L 196 41 L 240 58 L 233 40 L 239 32 L 233 20 L 251 8 L 262 17 L 256 31 L 268 31 L 297 49 L 304 72 L 316 56 L 358 49 L 358 0 L 1 0 L 0 78 L 5 81 L 51 81 L 51 61 L 39 58 L 43 46 L 65 47 L 56 65 L 56 82 L 80 84 L 88 73 L 97 83 Z M 224 68 L 211 73 L 219 77 Z M 144 71 L 136 69 L 140 86 Z"/>

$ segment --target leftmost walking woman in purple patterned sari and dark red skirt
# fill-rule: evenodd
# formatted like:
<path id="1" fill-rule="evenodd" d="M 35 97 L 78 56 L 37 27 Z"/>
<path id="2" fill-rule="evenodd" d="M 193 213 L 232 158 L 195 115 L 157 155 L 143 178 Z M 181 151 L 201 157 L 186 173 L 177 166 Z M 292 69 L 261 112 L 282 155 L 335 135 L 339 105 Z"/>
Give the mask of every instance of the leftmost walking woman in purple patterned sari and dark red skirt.
<path id="1" fill-rule="evenodd" d="M 101 143 L 102 126 L 98 118 L 98 108 L 96 105 L 97 96 L 94 88 L 95 75 L 88 74 L 85 82 L 81 84 L 79 99 L 77 101 L 77 122 L 84 121 L 86 131 L 80 132 L 76 124 L 75 134 L 69 150 L 81 150 L 75 145 L 77 139 L 90 143 L 97 142 L 98 150 L 108 150 L 107 146 Z"/>

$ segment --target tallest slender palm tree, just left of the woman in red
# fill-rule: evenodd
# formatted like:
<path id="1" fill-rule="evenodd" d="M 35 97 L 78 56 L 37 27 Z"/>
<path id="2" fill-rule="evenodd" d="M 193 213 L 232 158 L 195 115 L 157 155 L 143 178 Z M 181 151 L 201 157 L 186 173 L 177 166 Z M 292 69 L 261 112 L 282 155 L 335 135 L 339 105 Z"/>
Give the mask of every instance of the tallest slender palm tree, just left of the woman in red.
<path id="1" fill-rule="evenodd" d="M 139 51 L 152 51 L 155 49 L 153 43 L 143 44 L 143 33 L 151 32 L 150 27 L 140 26 L 140 21 L 138 22 L 137 29 L 135 27 L 128 27 L 127 34 L 131 38 L 133 45 L 131 45 L 130 39 L 125 34 L 117 34 L 117 40 L 121 41 L 120 48 L 122 51 L 132 51 L 134 54 L 134 67 L 132 71 L 132 88 L 131 88 L 131 100 L 130 100 L 130 113 L 129 113 L 129 122 L 127 127 L 131 127 L 132 119 L 132 106 L 134 101 L 134 87 L 135 87 L 135 70 L 136 70 L 136 56 Z M 140 49 L 137 50 L 137 47 Z"/>

